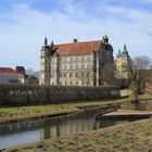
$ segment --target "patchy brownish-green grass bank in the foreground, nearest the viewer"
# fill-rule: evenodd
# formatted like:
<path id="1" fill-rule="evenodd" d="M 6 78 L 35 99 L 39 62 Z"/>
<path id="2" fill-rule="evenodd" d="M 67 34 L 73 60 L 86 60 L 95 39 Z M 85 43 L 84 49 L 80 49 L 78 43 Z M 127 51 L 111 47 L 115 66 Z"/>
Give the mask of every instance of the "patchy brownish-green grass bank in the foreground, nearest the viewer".
<path id="1" fill-rule="evenodd" d="M 151 152 L 152 119 L 17 147 L 14 152 Z M 4 151 L 7 152 L 7 150 Z"/>

